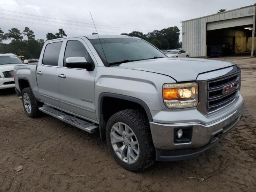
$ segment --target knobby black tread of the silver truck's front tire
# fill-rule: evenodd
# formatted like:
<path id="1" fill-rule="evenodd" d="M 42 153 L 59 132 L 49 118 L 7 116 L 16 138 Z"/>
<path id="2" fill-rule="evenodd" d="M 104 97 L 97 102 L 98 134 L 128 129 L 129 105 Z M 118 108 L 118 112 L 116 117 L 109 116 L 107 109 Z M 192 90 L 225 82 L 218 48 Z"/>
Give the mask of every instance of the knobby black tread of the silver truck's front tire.
<path id="1" fill-rule="evenodd" d="M 128 118 L 134 125 L 136 125 L 136 128 L 138 129 L 143 138 L 142 142 L 145 146 L 143 150 L 143 152 L 145 153 L 143 163 L 139 168 L 129 169 L 130 171 L 140 172 L 151 166 L 155 160 L 155 150 L 152 141 L 149 121 L 148 118 L 144 114 L 140 113 L 138 110 L 126 109 L 112 115 L 108 120 L 106 127 L 108 127 L 109 123 L 112 122 L 112 120 L 123 117 Z"/>

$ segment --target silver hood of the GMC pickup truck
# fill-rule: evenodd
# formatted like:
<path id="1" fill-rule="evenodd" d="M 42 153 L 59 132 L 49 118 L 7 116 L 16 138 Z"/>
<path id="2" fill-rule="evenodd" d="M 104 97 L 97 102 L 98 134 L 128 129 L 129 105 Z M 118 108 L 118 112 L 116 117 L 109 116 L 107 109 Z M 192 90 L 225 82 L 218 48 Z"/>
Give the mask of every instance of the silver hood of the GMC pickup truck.
<path id="1" fill-rule="evenodd" d="M 170 76 L 177 82 L 194 81 L 200 73 L 234 65 L 231 62 L 196 58 L 158 58 L 120 64 L 119 67 Z"/>

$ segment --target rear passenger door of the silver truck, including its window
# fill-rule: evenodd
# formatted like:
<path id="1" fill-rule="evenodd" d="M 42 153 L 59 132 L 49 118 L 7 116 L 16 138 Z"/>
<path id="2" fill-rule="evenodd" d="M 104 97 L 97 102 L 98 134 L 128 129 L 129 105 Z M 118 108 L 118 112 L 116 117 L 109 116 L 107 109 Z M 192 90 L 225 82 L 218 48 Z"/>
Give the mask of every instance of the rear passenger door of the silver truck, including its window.
<path id="1" fill-rule="evenodd" d="M 62 41 L 52 42 L 46 45 L 42 64 L 36 69 L 36 79 L 38 84 L 38 93 L 43 102 L 59 105 L 58 93 L 58 74 L 60 62 L 60 50 Z"/>

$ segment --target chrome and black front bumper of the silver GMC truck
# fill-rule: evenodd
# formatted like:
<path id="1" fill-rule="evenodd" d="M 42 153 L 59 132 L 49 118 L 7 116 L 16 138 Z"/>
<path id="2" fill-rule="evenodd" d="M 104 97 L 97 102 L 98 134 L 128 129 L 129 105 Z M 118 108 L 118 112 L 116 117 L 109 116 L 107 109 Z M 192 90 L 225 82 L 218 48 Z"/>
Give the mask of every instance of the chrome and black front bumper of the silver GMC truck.
<path id="1" fill-rule="evenodd" d="M 210 120 L 210 123 L 184 122 L 163 124 L 150 122 L 152 139 L 156 148 L 156 160 L 174 161 L 198 156 L 201 152 L 219 142 L 234 128 L 242 117 L 243 108 L 244 103 L 242 96 L 240 96 L 240 99 L 229 107 L 228 115 L 225 113 L 226 115 L 223 117 L 223 114 L 217 114 L 214 119 L 218 117 L 219 119 L 214 122 L 210 122 Z M 174 129 L 176 128 L 191 128 L 191 140 L 184 143 L 175 143 Z"/>

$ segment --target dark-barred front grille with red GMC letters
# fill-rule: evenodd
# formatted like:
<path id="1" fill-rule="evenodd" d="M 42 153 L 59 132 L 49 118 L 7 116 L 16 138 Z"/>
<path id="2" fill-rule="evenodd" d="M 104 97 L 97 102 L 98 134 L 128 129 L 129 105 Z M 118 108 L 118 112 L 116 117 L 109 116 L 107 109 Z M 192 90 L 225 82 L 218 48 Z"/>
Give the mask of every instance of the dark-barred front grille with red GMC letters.
<path id="1" fill-rule="evenodd" d="M 232 102 L 238 94 L 240 74 L 217 78 L 207 82 L 207 110 L 216 110 Z"/>

